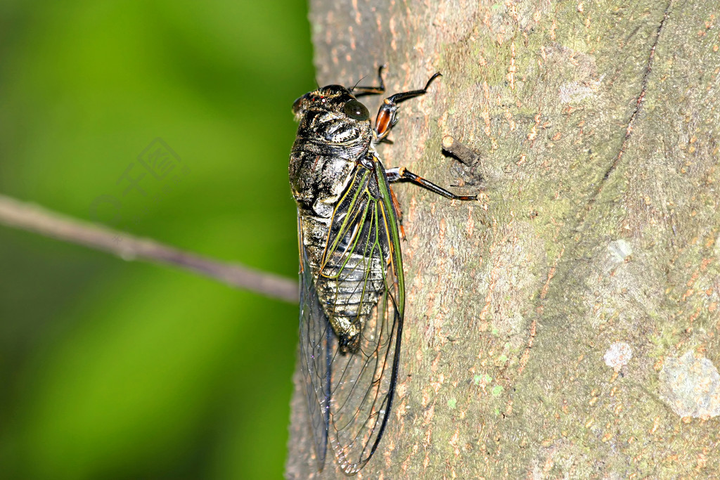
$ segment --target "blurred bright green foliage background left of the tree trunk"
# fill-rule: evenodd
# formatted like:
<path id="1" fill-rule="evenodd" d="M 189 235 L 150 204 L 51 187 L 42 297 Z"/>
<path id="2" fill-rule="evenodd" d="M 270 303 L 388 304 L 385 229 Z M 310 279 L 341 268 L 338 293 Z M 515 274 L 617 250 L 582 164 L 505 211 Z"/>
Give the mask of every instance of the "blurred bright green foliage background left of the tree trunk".
<path id="1" fill-rule="evenodd" d="M 304 1 L 4 0 L 0 193 L 296 278 L 311 56 Z M 157 137 L 184 174 L 126 191 Z M 296 348 L 297 305 L 0 226 L 0 478 L 279 478 Z"/>

